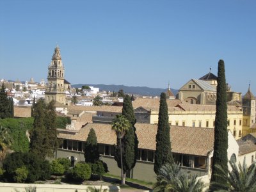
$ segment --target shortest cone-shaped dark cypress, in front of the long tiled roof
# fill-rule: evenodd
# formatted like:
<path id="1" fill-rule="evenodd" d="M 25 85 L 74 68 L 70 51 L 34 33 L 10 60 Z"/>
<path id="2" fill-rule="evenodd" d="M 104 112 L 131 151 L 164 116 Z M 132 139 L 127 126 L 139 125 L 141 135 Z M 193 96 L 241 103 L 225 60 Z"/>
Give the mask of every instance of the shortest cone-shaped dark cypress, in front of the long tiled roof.
<path id="1" fill-rule="evenodd" d="M 86 163 L 95 163 L 99 160 L 99 146 L 94 129 L 90 129 L 84 147 L 84 158 Z"/>

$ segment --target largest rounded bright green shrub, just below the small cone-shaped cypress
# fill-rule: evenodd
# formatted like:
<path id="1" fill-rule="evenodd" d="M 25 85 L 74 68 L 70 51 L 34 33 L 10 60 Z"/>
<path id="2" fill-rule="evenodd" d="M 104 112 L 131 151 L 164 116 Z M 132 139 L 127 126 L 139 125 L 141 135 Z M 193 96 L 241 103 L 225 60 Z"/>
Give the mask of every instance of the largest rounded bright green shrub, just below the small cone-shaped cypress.
<path id="1" fill-rule="evenodd" d="M 74 180 L 88 180 L 92 175 L 92 170 L 89 164 L 77 163 L 72 170 L 72 178 Z"/>

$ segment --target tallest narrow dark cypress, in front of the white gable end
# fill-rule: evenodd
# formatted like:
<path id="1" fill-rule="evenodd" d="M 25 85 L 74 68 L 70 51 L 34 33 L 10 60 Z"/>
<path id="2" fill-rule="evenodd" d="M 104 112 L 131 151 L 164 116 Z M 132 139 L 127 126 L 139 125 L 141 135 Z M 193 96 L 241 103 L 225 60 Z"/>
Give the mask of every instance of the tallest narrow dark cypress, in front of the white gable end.
<path id="1" fill-rule="evenodd" d="M 216 169 L 216 164 L 221 166 L 224 170 L 227 170 L 228 166 L 227 87 L 225 79 L 225 65 L 223 60 L 220 60 L 218 63 L 217 83 L 218 85 L 214 128 L 214 152 L 211 182 L 219 182 L 223 185 L 226 185 L 227 180 L 220 179 L 218 175 L 220 175 L 221 172 L 220 170 Z M 227 176 L 227 173 L 225 174 Z"/>

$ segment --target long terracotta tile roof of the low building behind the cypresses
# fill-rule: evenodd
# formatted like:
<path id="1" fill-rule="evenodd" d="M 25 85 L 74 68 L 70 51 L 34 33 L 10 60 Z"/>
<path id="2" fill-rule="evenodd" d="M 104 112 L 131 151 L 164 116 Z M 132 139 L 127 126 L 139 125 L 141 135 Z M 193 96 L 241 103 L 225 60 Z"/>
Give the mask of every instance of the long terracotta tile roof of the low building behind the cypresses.
<path id="1" fill-rule="evenodd" d="M 136 124 L 136 133 L 139 148 L 156 150 L 157 125 Z M 87 124 L 79 132 L 68 133 L 63 131 L 58 138 L 68 140 L 86 141 L 90 129 L 93 128 L 97 135 L 98 143 L 113 145 L 116 143 L 116 134 L 111 130 L 110 124 Z M 207 156 L 213 150 L 214 129 L 202 127 L 172 126 L 170 129 L 172 151 L 179 154 Z"/>

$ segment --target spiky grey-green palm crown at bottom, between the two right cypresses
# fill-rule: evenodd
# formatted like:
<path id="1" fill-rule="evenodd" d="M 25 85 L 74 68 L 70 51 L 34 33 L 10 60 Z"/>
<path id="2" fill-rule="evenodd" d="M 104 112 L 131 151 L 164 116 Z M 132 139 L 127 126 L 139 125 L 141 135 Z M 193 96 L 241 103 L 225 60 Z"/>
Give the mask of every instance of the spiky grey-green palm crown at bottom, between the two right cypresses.
<path id="1" fill-rule="evenodd" d="M 183 173 L 179 164 L 164 164 L 157 175 L 153 191 L 200 192 L 204 182 Z"/>

